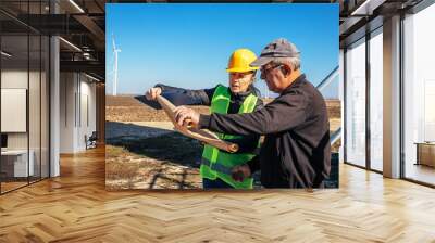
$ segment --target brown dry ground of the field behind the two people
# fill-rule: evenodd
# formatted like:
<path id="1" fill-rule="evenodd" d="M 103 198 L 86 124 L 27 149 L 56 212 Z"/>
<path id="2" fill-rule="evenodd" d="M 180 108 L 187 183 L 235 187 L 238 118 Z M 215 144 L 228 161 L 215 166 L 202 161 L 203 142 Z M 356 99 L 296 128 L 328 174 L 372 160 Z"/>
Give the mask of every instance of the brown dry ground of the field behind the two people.
<path id="1" fill-rule="evenodd" d="M 340 126 L 340 102 L 328 100 L 326 104 L 334 132 Z M 191 107 L 201 114 L 209 113 L 207 106 Z M 109 190 L 202 188 L 202 144 L 175 132 L 157 102 L 133 95 L 107 95 L 105 119 Z M 333 150 L 338 145 L 339 141 Z M 260 187 L 259 174 L 254 180 L 256 187 Z"/>

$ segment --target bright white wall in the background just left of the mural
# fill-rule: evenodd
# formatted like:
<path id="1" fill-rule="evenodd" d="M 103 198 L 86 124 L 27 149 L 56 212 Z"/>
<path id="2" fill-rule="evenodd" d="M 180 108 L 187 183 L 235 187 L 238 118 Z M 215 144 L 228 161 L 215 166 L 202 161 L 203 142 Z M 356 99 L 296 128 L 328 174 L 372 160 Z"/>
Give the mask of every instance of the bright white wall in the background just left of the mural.
<path id="1" fill-rule="evenodd" d="M 60 152 L 80 152 L 85 136 L 96 130 L 96 85 L 78 73 L 61 73 L 60 79 Z"/>

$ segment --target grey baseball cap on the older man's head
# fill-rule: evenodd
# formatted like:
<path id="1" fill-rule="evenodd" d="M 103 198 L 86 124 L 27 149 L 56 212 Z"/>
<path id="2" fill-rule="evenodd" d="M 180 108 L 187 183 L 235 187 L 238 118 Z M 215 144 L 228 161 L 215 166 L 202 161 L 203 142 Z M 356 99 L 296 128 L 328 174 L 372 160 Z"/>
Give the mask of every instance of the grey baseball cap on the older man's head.
<path id="1" fill-rule="evenodd" d="M 285 38 L 279 38 L 269 43 L 256 61 L 250 66 L 263 66 L 275 57 L 299 57 L 300 51 L 294 43 Z"/>

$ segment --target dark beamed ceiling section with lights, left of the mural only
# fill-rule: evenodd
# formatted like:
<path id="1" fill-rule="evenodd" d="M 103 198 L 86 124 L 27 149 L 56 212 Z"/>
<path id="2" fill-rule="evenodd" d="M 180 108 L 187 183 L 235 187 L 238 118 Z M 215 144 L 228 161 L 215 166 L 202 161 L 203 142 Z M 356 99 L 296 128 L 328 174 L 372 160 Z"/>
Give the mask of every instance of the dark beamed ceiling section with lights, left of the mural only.
<path id="1" fill-rule="evenodd" d="M 35 42 L 40 36 L 55 35 L 62 37 L 61 72 L 86 72 L 104 80 L 104 0 L 1 0 L 2 49 L 13 54 L 8 64 L 18 64 L 28 59 L 27 54 L 30 64 L 36 62 L 40 48 Z"/>

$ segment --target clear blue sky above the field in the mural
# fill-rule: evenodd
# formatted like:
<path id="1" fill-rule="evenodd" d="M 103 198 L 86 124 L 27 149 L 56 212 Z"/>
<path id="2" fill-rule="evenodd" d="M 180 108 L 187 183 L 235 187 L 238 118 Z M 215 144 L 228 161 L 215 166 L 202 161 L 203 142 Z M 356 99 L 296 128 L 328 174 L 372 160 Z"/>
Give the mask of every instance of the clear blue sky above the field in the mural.
<path id="1" fill-rule="evenodd" d="M 108 3 L 105 10 L 108 93 L 112 34 L 122 50 L 117 93 L 144 93 L 157 82 L 188 89 L 227 85 L 234 50 L 260 54 L 279 37 L 301 51 L 301 69 L 314 85 L 338 65 L 338 4 Z M 263 80 L 256 86 L 264 93 Z"/>

